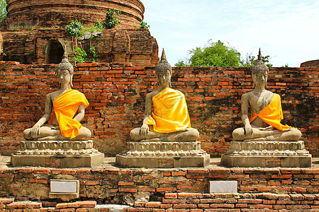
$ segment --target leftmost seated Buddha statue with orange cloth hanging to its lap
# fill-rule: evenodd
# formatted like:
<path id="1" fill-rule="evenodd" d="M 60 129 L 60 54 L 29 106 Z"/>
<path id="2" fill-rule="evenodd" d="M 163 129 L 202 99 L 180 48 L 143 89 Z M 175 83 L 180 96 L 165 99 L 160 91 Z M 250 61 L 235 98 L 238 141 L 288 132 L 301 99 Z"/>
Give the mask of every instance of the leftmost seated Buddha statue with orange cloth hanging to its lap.
<path id="1" fill-rule="evenodd" d="M 71 88 L 73 73 L 65 50 L 62 62 L 57 65 L 60 89 L 47 94 L 45 114 L 32 128 L 23 131 L 25 139 L 58 141 L 87 140 L 91 137 L 91 131 L 79 123 L 89 102 L 83 93 Z M 43 126 L 47 121 L 47 125 Z"/>

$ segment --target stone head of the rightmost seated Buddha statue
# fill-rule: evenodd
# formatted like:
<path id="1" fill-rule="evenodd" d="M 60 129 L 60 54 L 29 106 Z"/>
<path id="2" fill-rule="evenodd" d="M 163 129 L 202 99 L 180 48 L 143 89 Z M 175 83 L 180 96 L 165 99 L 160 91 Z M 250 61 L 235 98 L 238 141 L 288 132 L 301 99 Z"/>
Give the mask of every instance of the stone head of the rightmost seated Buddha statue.
<path id="1" fill-rule="evenodd" d="M 268 78 L 269 68 L 262 61 L 262 53 L 259 49 L 258 59 L 254 66 L 252 67 L 252 81 L 254 86 L 264 85 L 267 88 L 267 78 Z"/>

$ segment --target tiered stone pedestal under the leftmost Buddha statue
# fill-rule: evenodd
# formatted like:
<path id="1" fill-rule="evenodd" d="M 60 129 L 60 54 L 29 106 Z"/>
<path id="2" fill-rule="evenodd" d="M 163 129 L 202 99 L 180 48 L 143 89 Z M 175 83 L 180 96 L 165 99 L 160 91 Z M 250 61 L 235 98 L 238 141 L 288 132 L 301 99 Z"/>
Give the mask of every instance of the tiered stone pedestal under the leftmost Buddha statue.
<path id="1" fill-rule="evenodd" d="M 11 155 L 11 164 L 42 167 L 95 167 L 104 154 L 93 148 L 93 141 L 21 141 Z"/>

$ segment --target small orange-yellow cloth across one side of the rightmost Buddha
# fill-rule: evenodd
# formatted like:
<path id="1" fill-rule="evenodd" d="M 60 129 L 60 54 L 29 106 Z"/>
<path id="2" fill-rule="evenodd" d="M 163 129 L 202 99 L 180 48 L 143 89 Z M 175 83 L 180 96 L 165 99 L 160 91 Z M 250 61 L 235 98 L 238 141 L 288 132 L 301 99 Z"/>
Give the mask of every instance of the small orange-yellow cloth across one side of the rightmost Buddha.
<path id="1" fill-rule="evenodd" d="M 281 109 L 281 100 L 280 95 L 274 94 L 272 98 L 272 102 L 267 105 L 263 110 L 261 110 L 258 114 L 252 112 L 252 118 L 250 119 L 250 123 L 259 117 L 267 124 L 273 126 L 276 129 L 284 131 L 285 129 L 292 128 L 291 126 L 281 124 L 281 120 L 284 119 Z"/>

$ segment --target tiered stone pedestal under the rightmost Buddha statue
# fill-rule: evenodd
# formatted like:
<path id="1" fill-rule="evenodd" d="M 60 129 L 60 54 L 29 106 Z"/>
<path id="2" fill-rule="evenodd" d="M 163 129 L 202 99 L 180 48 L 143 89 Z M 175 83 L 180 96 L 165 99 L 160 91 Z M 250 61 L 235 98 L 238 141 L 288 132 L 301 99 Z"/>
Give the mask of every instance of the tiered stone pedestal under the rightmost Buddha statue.
<path id="1" fill-rule="evenodd" d="M 222 155 L 227 167 L 311 167 L 303 141 L 232 141 Z"/>

